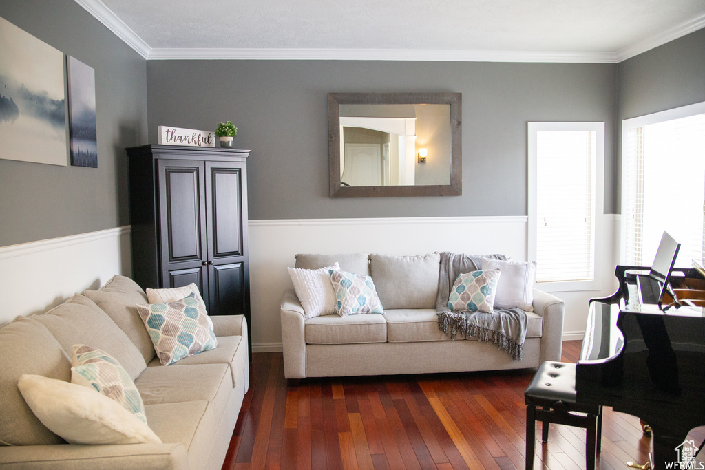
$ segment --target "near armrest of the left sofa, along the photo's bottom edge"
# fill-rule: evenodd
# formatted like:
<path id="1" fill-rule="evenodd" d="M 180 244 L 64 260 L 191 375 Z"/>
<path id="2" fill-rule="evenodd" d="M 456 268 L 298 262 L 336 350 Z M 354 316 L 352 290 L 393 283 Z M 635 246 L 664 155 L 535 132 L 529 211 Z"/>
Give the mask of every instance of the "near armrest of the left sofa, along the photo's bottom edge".
<path id="1" fill-rule="evenodd" d="M 187 469 L 182 444 L 16 445 L 0 448 L 0 469 Z"/>

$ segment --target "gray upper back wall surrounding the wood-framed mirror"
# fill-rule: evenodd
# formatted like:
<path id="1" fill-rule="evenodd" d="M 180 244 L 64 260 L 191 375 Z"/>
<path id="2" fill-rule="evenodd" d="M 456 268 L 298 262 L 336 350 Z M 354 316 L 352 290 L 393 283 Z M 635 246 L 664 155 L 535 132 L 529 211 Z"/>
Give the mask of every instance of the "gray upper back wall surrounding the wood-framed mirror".
<path id="1" fill-rule="evenodd" d="M 329 92 L 462 93 L 461 197 L 330 199 Z M 527 121 L 606 123 L 613 207 L 615 64 L 383 61 L 148 61 L 149 141 L 157 126 L 238 126 L 250 218 L 522 216 Z"/>

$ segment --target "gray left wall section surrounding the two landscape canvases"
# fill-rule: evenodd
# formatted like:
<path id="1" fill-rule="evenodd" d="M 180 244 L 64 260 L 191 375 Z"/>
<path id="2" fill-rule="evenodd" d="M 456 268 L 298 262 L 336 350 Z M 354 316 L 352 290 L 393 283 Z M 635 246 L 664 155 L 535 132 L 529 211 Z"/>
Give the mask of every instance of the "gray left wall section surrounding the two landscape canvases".
<path id="1" fill-rule="evenodd" d="M 94 68 L 98 126 L 98 168 L 0 159 L 0 247 L 128 225 L 124 149 L 147 140 L 147 62 L 73 0 L 3 0 L 0 17 Z"/>

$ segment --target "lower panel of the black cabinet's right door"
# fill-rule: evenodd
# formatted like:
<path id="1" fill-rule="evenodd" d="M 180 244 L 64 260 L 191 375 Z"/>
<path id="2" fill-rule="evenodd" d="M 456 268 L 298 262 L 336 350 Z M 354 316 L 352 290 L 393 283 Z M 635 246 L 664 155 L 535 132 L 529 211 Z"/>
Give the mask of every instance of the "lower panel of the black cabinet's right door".
<path id="1" fill-rule="evenodd" d="M 210 310 L 211 315 L 246 314 L 247 297 L 245 295 L 245 264 L 231 263 L 209 266 Z"/>

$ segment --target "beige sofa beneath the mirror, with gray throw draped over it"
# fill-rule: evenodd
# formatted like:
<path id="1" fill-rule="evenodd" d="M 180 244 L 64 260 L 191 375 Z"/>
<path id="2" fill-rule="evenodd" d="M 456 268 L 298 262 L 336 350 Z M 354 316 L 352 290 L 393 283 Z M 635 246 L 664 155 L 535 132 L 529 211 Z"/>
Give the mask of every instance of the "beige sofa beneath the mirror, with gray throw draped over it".
<path id="1" fill-rule="evenodd" d="M 449 340 L 439 330 L 438 254 L 298 254 L 295 268 L 322 268 L 336 261 L 343 271 L 372 276 L 384 315 L 305 320 L 296 293 L 287 290 L 281 300 L 281 333 L 288 379 L 524 369 L 560 361 L 565 303 L 553 295 L 534 289 L 524 357 L 514 362 L 491 343 Z"/>

